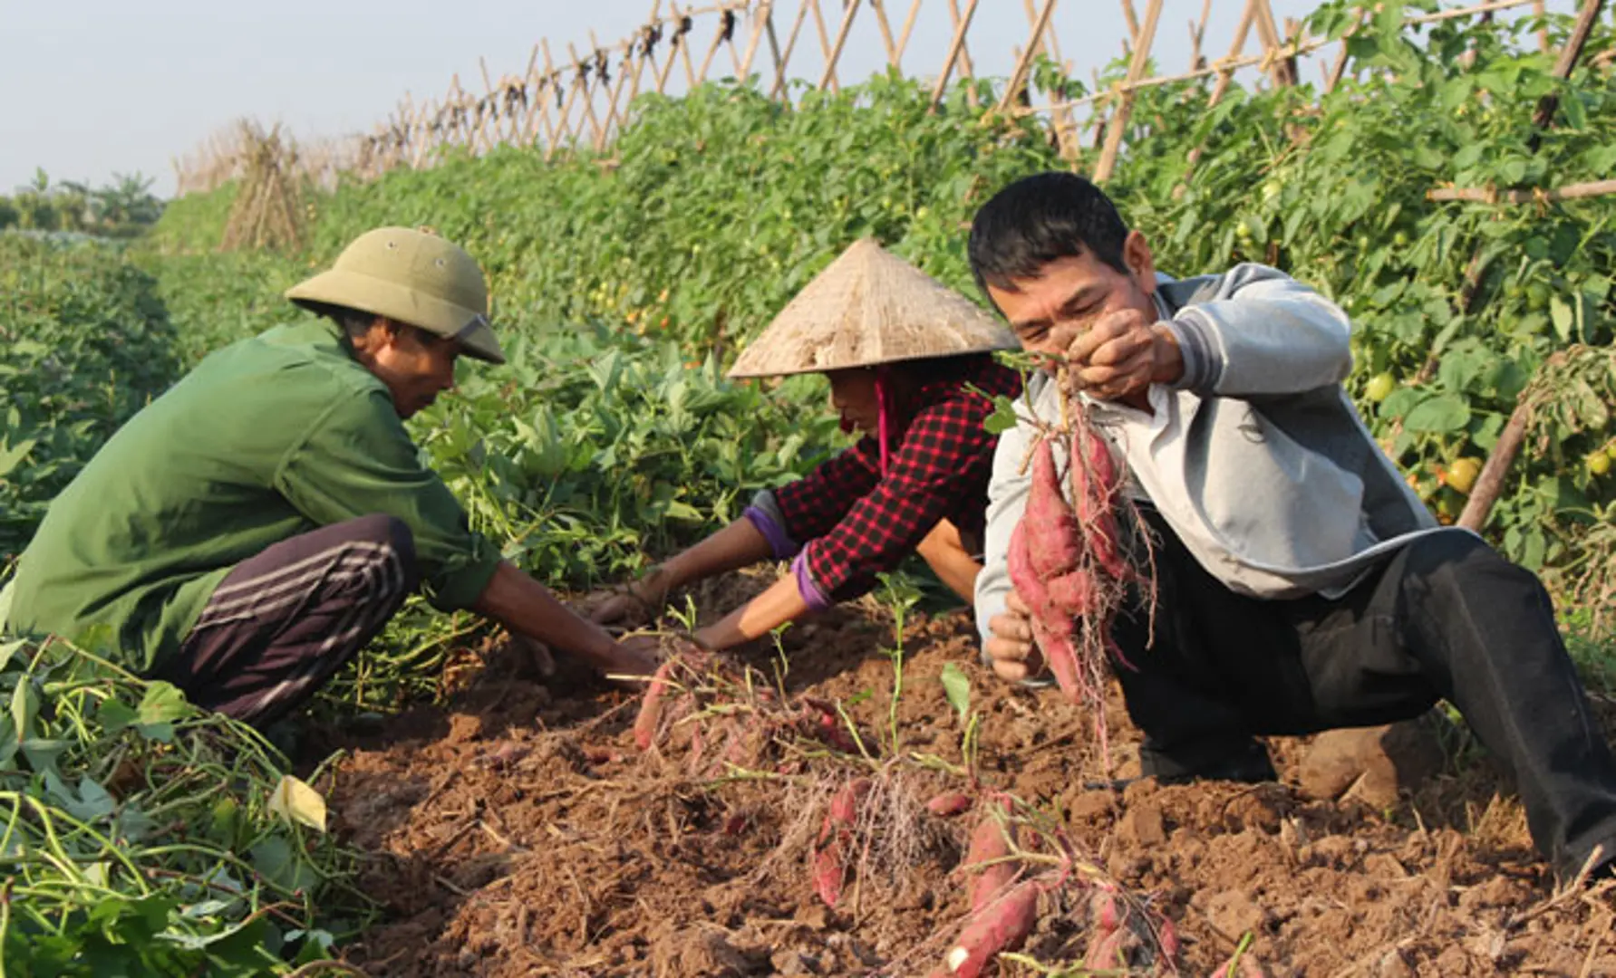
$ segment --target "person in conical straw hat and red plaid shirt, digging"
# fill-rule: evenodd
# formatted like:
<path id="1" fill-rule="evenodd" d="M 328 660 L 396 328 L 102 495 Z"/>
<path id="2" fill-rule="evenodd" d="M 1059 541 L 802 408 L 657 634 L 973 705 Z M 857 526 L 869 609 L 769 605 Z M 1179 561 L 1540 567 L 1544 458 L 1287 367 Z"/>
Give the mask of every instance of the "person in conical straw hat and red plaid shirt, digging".
<path id="1" fill-rule="evenodd" d="M 790 560 L 792 573 L 700 629 L 700 642 L 727 649 L 855 599 L 915 552 L 971 602 L 997 442 L 983 421 L 991 397 L 1021 392 L 992 350 L 1015 347 L 963 295 L 873 240 L 853 244 L 729 376 L 824 373 L 842 429 L 865 437 L 806 478 L 758 492 L 740 520 L 653 568 L 595 618 L 643 616 L 675 587 L 771 557 Z"/>

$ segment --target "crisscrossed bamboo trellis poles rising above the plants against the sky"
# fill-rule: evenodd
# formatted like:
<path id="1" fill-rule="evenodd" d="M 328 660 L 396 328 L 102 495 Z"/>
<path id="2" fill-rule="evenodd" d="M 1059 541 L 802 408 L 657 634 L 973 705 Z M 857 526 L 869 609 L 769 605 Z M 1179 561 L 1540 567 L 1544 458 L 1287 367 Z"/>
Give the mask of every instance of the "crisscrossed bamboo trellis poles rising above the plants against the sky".
<path id="1" fill-rule="evenodd" d="M 936 110 L 952 81 L 978 77 L 970 39 L 971 27 L 979 26 L 986 15 L 984 8 L 999 6 L 995 13 L 1002 16 L 1002 6 L 1013 0 L 908 0 L 902 21 L 889 16 L 898 13 L 897 5 L 903 2 L 842 0 L 840 10 L 835 10 L 835 0 L 719 0 L 705 6 L 656 0 L 645 24 L 616 44 L 601 44 L 593 32 L 583 50 L 577 44 L 553 48 L 548 39 L 541 39 L 519 74 L 494 77 L 480 60 L 478 92 L 467 90 L 461 77 L 452 76 L 441 97 L 417 103 L 406 94 L 367 134 L 299 145 L 301 168 L 317 184 L 331 186 L 339 176 L 368 181 L 398 166 L 431 166 L 446 152 L 486 153 L 499 145 L 538 147 L 546 160 L 588 152 L 609 165 L 612 142 L 630 121 L 632 102 L 648 92 L 677 94 L 675 68 L 682 76 L 682 90 L 713 77 L 755 74 L 761 92 L 789 100 L 792 89 L 802 86 L 839 90 L 844 56 L 860 32 L 879 36 L 887 68 L 932 79 Z M 1340 45 L 1341 50 L 1333 66 L 1320 65 L 1324 86 L 1330 89 L 1340 82 L 1348 68 L 1345 40 L 1309 37 L 1293 21 L 1281 34 L 1270 0 L 1239 2 L 1243 10 L 1225 56 L 1209 61 L 1202 53 L 1212 11 L 1212 0 L 1204 0 L 1199 21 L 1189 23 L 1188 69 L 1147 76 L 1167 5 L 1147 0 L 1141 18 L 1131 0 L 1120 0 L 1128 31 L 1123 40 L 1128 52 L 1125 79 L 1070 98 L 1062 90 L 1044 90 L 1034 81 L 1041 60 L 1073 76 L 1071 63 L 1060 56 L 1054 23 L 1057 0 L 1023 0 L 1028 37 L 1012 52 L 1008 79 L 995 79 L 992 105 L 976 107 L 974 87 L 968 97 L 979 111 L 1047 116 L 1063 158 L 1105 181 L 1126 136 L 1134 95 L 1147 87 L 1212 79 L 1210 102 L 1217 103 L 1235 74 L 1244 69 L 1259 73 L 1260 84 L 1296 84 L 1299 58 L 1328 45 Z M 894 3 L 890 11 L 889 3 Z M 1429 24 L 1522 6 L 1540 10 L 1542 5 L 1543 0 L 1490 0 L 1411 16 L 1406 23 Z M 947 31 L 949 40 L 937 60 L 921 58 L 911 50 L 923 16 L 931 16 L 936 26 Z M 1248 45 L 1252 40 L 1256 44 Z M 558 50 L 564 50 L 564 56 Z M 795 86 L 792 79 L 797 79 Z M 1086 127 L 1091 131 L 1088 139 Z M 183 160 L 175 160 L 176 192 L 212 190 L 239 176 L 242 148 L 231 136 L 215 136 Z"/>

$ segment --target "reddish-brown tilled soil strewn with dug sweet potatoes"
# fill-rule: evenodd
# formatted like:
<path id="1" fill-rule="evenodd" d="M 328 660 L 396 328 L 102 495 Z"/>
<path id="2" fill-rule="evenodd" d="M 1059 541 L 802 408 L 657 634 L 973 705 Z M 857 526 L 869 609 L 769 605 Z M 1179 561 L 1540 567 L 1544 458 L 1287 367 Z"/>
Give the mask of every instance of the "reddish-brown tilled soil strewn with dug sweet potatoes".
<path id="1" fill-rule="evenodd" d="M 763 583 L 729 578 L 698 607 L 727 608 Z M 873 744 L 890 726 L 892 646 L 890 613 L 866 599 L 789 629 L 784 658 L 747 657 L 764 675 L 789 662 L 792 697 L 844 704 Z M 1272 976 L 1616 978 L 1616 892 L 1556 896 L 1509 788 L 1474 750 L 1387 810 L 1302 796 L 1304 739 L 1270 742 L 1281 783 L 1117 788 L 1109 778 L 1138 771 L 1138 734 L 1115 692 L 1105 775 L 1078 707 L 978 665 L 963 610 L 911 615 L 903 654 L 905 760 L 881 768 L 892 797 L 1002 791 L 1047 813 L 1092 880 L 1173 922 L 1176 973 L 1209 975 L 1244 941 Z M 837 786 L 827 771 L 847 771 L 845 759 L 696 770 L 688 741 L 635 747 L 633 691 L 566 663 L 541 684 L 514 655 L 485 658 L 448 707 L 351 739 L 320 783 L 336 831 L 370 854 L 362 886 L 385 909 L 349 963 L 377 976 L 658 978 L 941 967 L 968 910 L 957 867 L 978 818 L 902 802 L 918 815 L 882 823 L 887 859 L 866 841 L 832 910 L 814 892 L 810 844 Z M 963 763 L 947 663 L 981 713 L 979 786 L 947 771 Z M 1598 705 L 1616 729 L 1616 710 Z M 1025 954 L 1081 962 L 1094 915 L 1070 888 L 1041 907 Z M 1138 972 L 1097 973 L 1175 973 L 1149 952 L 1130 960 Z"/>

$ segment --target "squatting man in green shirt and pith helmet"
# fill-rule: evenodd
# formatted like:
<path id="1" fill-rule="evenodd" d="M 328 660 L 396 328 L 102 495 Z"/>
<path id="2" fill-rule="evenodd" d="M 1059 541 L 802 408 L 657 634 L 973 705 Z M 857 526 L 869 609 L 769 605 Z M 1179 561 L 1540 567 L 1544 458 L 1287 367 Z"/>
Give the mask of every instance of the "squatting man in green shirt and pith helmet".
<path id="1" fill-rule="evenodd" d="M 456 357 L 504 363 L 482 270 L 370 231 L 286 294 L 323 318 L 207 357 L 58 495 L 0 620 L 95 626 L 133 671 L 265 726 L 305 702 L 423 587 L 609 675 L 654 668 L 501 560 L 404 431 Z"/>

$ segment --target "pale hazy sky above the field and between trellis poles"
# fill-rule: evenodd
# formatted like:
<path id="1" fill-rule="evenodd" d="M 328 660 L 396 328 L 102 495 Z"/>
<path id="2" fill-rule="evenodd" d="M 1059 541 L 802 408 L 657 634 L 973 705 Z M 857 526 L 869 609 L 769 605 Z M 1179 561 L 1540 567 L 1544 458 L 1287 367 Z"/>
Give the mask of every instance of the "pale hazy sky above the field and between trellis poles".
<path id="1" fill-rule="evenodd" d="M 785 34 L 800 0 L 776 0 L 774 23 Z M 960 0 L 962 6 L 968 0 Z M 860 81 L 886 55 L 869 0 L 855 19 L 839 65 L 844 82 Z M 1286 16 L 1304 16 L 1309 0 L 1272 0 L 1281 29 Z M 696 6 L 709 6 L 696 0 Z M 1136 0 L 1144 11 L 1147 0 Z M 1568 11 L 1572 0 L 1551 0 Z M 1189 24 L 1201 0 L 1167 0 L 1154 56 L 1164 71 L 1189 61 Z M 1241 0 L 1212 0 L 1204 52 L 1228 52 Z M 78 0 L 74 3 L 0 0 L 0 194 L 27 182 L 36 166 L 52 179 L 100 184 L 115 173 L 157 178 L 155 192 L 175 187 L 170 158 L 239 116 L 280 121 L 297 137 L 370 131 L 410 92 L 417 102 L 441 95 L 451 76 L 482 90 L 478 56 L 488 71 L 520 74 L 540 37 L 564 56 L 567 42 L 590 47 L 590 31 L 612 45 L 642 24 L 651 0 Z M 666 5 L 664 5 L 666 10 Z M 834 34 L 839 0 L 823 0 Z M 886 0 L 897 32 L 908 0 Z M 705 55 L 716 31 L 713 15 L 696 18 L 695 55 Z M 1122 53 L 1122 8 L 1110 0 L 1065 0 L 1054 16 L 1060 53 L 1083 79 Z M 1012 48 L 1028 37 L 1025 0 L 979 0 L 968 44 L 979 74 L 1007 76 Z M 737 44 L 751 21 L 737 27 Z M 920 0 L 903 69 L 934 77 L 950 34 L 945 0 Z M 819 39 L 813 18 L 792 58 L 792 74 L 818 74 Z M 1257 52 L 1256 32 L 1248 52 Z M 732 71 L 721 50 L 716 66 Z M 800 68 L 798 68 L 800 66 Z M 753 71 L 769 68 L 758 56 Z M 682 68 L 675 68 L 679 79 Z M 713 76 L 718 76 L 714 71 Z M 1304 76 L 1317 81 L 1319 68 Z M 682 86 L 680 86 L 682 87 Z"/>

